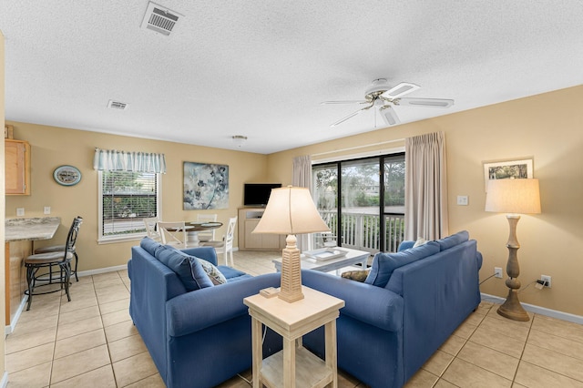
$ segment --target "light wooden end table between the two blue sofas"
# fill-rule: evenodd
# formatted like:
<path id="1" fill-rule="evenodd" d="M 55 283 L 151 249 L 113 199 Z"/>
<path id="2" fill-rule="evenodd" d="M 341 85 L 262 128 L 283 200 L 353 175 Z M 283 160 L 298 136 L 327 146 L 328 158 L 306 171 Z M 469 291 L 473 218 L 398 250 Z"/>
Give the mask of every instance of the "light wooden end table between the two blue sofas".
<path id="1" fill-rule="evenodd" d="M 243 302 L 251 315 L 253 388 L 338 386 L 336 372 L 336 318 L 342 299 L 302 287 L 304 298 L 288 303 L 260 294 Z M 261 328 L 266 325 L 283 337 L 283 350 L 263 360 Z M 302 346 L 302 336 L 324 326 L 326 361 Z"/>

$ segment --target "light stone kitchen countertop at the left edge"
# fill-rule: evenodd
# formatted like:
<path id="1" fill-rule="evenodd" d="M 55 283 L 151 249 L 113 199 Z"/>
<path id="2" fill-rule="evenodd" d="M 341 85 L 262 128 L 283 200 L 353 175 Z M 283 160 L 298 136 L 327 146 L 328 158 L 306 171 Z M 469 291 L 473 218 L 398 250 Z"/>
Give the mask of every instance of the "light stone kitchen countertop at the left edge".
<path id="1" fill-rule="evenodd" d="M 60 217 L 6 220 L 5 241 L 50 240 L 60 224 Z"/>

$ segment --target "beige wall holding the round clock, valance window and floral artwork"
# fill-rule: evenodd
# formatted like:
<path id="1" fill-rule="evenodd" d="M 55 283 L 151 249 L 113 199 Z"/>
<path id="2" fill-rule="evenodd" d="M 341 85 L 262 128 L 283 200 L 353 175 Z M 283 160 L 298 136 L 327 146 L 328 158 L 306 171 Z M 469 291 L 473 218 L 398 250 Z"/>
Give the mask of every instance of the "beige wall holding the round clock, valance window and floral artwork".
<path id="1" fill-rule="evenodd" d="M 168 173 L 162 176 L 163 220 L 196 220 L 199 213 L 182 209 L 184 161 L 229 165 L 229 209 L 200 210 L 217 213 L 218 219 L 225 224 L 217 230 L 218 238 L 226 232 L 227 220 L 237 215 L 237 208 L 242 204 L 243 183 L 262 181 L 266 171 L 267 157 L 260 154 L 19 122 L 11 124 L 15 128 L 15 138 L 28 141 L 32 148 L 32 195 L 7 196 L 5 217 L 15 218 L 16 208 L 25 208 L 25 217 L 46 217 L 43 208 L 50 206 L 51 216 L 61 217 L 62 221 L 55 240 L 64 242 L 71 220 L 82 216 L 83 225 L 77 240 L 79 271 L 125 265 L 130 248 L 136 245 L 136 241 L 97 244 L 97 171 L 93 169 L 96 147 L 166 155 Z M 53 179 L 55 168 L 64 164 L 81 171 L 82 179 L 76 186 L 60 186 Z M 55 243 L 38 241 L 35 246 L 50 242 Z"/>

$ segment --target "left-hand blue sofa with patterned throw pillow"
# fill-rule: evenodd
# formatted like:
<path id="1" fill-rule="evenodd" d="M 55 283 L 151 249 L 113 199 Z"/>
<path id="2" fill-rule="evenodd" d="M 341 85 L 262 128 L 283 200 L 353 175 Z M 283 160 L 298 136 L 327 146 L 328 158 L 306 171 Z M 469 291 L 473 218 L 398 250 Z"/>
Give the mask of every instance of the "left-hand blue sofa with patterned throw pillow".
<path id="1" fill-rule="evenodd" d="M 194 271 L 187 264 L 198 265 L 200 259 L 217 265 L 212 247 L 179 253 L 145 238 L 140 246 L 132 247 L 128 261 L 129 313 L 169 388 L 212 387 L 250 369 L 251 318 L 243 298 L 280 286 L 278 273 L 251 277 L 216 266 L 227 283 L 209 284 L 205 276 L 204 288 L 189 291 L 199 287 L 196 283 L 201 280 L 191 276 L 190 283 L 185 281 L 182 270 Z M 281 337 L 268 330 L 263 354 L 280 350 Z"/>

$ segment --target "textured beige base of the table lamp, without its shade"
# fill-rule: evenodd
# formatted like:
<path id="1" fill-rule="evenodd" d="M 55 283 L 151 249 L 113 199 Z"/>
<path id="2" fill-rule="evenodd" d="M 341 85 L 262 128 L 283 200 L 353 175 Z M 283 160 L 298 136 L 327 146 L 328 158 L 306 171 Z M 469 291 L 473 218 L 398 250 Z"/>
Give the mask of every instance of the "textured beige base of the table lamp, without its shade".
<path id="1" fill-rule="evenodd" d="M 288 303 L 303 299 L 302 262 L 296 241 L 295 235 L 288 235 L 281 256 L 281 290 L 277 296 Z"/>

